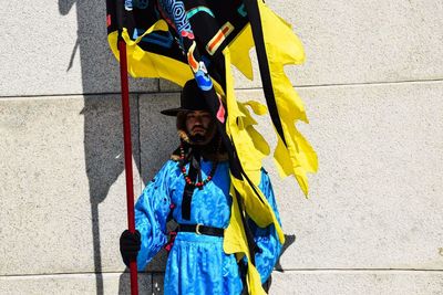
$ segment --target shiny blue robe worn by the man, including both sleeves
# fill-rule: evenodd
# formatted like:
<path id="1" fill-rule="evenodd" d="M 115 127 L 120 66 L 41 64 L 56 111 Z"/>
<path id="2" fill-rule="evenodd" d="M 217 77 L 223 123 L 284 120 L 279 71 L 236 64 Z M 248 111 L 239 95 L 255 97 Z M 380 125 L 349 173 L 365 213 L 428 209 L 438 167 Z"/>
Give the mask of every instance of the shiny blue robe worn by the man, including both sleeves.
<path id="1" fill-rule="evenodd" d="M 202 160 L 202 178 L 205 179 L 212 169 L 212 162 Z M 188 165 L 186 167 L 188 169 Z M 146 186 L 135 204 L 135 224 L 142 236 L 142 246 L 137 256 L 138 271 L 167 243 L 166 222 L 171 217 L 177 223 L 204 224 L 226 229 L 230 219 L 229 166 L 227 161 L 219 162 L 216 172 L 204 189 L 195 189 L 190 220 L 182 218 L 182 198 L 185 179 L 177 161 L 168 160 L 154 179 Z M 276 212 L 276 200 L 269 177 L 261 172 L 259 188 Z M 266 282 L 272 272 L 280 251 L 274 224 L 260 229 L 253 221 L 255 241 L 261 249 L 256 254 L 256 267 Z M 240 294 L 243 282 L 234 254 L 225 254 L 223 238 L 178 232 L 167 259 L 164 281 L 165 294 Z"/>

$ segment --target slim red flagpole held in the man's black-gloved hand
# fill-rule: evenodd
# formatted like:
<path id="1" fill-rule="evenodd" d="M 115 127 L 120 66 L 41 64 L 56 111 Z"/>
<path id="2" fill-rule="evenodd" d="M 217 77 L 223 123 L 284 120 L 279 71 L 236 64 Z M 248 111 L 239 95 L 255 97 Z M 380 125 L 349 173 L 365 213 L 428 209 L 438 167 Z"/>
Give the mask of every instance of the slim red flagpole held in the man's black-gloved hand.
<path id="1" fill-rule="evenodd" d="M 127 81 L 126 43 L 124 42 L 123 39 L 119 40 L 119 51 L 120 51 L 120 77 L 121 77 L 121 85 L 122 85 L 127 226 L 128 226 L 128 230 L 132 233 L 134 233 L 135 232 L 135 219 L 134 219 L 134 186 L 133 186 L 133 173 L 132 173 L 130 87 L 128 87 L 128 81 Z M 136 260 L 130 262 L 130 270 L 131 270 L 131 295 L 138 295 Z"/>

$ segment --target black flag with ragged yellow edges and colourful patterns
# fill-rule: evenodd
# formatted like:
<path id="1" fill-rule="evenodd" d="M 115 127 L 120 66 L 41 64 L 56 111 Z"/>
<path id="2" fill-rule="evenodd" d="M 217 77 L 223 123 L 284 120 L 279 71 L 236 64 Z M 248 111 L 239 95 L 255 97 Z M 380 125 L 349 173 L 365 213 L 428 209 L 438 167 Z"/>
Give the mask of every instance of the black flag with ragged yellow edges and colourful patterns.
<path id="1" fill-rule="evenodd" d="M 284 65 L 305 61 L 291 27 L 261 0 L 107 0 L 109 42 L 119 59 L 117 40 L 126 42 L 128 72 L 134 77 L 162 77 L 183 86 L 195 78 L 228 148 L 233 196 L 243 198 L 248 215 L 259 225 L 276 225 L 274 211 L 258 189 L 262 159 L 270 149 L 254 128 L 256 115 L 269 110 L 276 135 L 274 152 L 282 177 L 293 175 L 308 193 L 307 172 L 317 170 L 317 155 L 296 123 L 308 123 L 303 104 Z M 256 46 L 267 107 L 237 102 L 231 65 L 253 78 L 249 51 Z M 236 198 L 236 197 L 235 197 Z M 239 214 L 233 207 L 224 249 L 250 260 Z M 237 210 L 237 211 L 236 211 Z M 248 267 L 248 286 L 261 294 L 257 271 Z"/>

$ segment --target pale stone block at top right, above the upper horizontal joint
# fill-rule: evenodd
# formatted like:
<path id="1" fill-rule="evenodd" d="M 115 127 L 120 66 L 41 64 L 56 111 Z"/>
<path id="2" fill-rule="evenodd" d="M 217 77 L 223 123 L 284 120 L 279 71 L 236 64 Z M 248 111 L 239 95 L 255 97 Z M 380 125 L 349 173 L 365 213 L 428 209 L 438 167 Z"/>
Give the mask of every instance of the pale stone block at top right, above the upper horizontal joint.
<path id="1" fill-rule="evenodd" d="M 443 77 L 443 4 L 431 1 L 268 1 L 292 27 L 307 55 L 285 67 L 293 85 L 353 84 Z M 261 85 L 235 71 L 238 88 Z M 165 91 L 174 89 L 161 84 Z"/>

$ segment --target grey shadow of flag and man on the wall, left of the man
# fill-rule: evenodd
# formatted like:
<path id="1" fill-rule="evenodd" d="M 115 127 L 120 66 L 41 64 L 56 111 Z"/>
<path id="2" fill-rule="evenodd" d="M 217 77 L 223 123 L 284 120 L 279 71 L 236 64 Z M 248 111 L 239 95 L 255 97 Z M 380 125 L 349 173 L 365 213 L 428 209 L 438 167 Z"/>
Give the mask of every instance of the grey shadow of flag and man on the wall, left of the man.
<path id="1" fill-rule="evenodd" d="M 74 8 L 75 4 L 75 8 Z M 86 0 L 59 0 L 59 12 L 66 15 L 76 12 L 78 21 L 78 40 L 72 49 L 71 59 L 66 61 L 66 72 L 71 70 L 75 56 L 80 59 L 82 74 L 82 89 L 84 94 L 100 94 L 106 92 L 120 92 L 120 73 L 119 65 L 112 56 L 107 44 L 106 36 L 106 8 L 105 1 L 86 1 Z M 130 78 L 130 84 L 135 81 Z M 137 87 L 143 87 L 147 80 L 137 81 Z M 131 85 L 130 85 L 131 86 Z M 116 181 L 124 171 L 123 158 L 123 134 L 122 134 L 122 110 L 120 95 L 110 95 L 104 98 L 103 95 L 87 95 L 84 99 L 84 108 L 81 114 L 84 116 L 84 158 L 86 167 L 86 176 L 90 188 L 91 220 L 92 220 L 92 239 L 94 254 L 94 273 L 96 294 L 104 294 L 103 274 L 102 274 L 102 251 L 100 236 L 100 212 L 99 206 L 102 203 L 111 186 Z M 137 98 L 138 99 L 138 98 Z M 144 104 L 146 106 L 147 104 Z M 165 138 L 158 140 L 158 134 L 145 134 L 145 140 L 148 143 L 145 152 L 138 152 L 140 139 L 138 135 L 138 101 L 131 98 L 132 106 L 132 143 L 137 170 L 142 171 L 141 162 L 150 164 L 150 169 L 142 171 L 142 177 L 146 181 L 163 165 L 165 157 L 165 143 L 171 144 L 171 138 L 175 138 L 174 125 L 165 127 L 163 131 Z M 151 104 L 150 104 L 151 106 Z M 167 119 L 157 119 L 158 110 L 151 107 L 144 108 L 144 114 L 154 115 L 154 118 L 144 119 L 145 125 L 158 122 L 169 124 Z M 162 109 L 164 106 L 162 106 Z M 154 128 L 158 129 L 158 128 Z M 152 133 L 153 128 L 146 128 L 142 131 Z M 158 130 L 157 130 L 158 131 Z M 166 141 L 165 141 L 166 140 Z M 169 140 L 169 141 L 168 141 Z M 140 155 L 142 154 L 142 156 Z M 137 177 L 136 171 L 134 176 Z M 122 196 L 125 198 L 125 196 Z M 135 196 L 137 198 L 137 196 Z M 116 229 L 123 231 L 123 229 Z M 117 245 L 119 241 L 115 241 Z M 164 265 L 164 261 L 158 264 Z M 123 262 L 122 262 L 123 265 Z M 151 293 L 153 284 L 152 275 L 148 273 L 140 274 L 141 293 Z M 130 294 L 128 273 L 122 273 L 120 277 L 119 294 Z"/>

